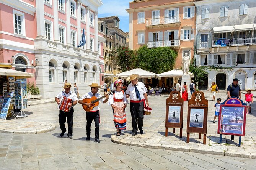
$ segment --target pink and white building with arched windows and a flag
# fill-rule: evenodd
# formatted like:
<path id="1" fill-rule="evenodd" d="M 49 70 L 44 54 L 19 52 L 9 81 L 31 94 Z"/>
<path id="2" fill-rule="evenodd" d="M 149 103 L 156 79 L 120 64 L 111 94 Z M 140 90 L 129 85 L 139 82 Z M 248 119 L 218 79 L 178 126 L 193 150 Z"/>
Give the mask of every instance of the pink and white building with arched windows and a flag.
<path id="1" fill-rule="evenodd" d="M 0 5 L 1 62 L 13 55 L 13 68 L 35 73 L 28 81 L 36 83 L 42 98 L 54 98 L 65 79 L 76 82 L 82 94 L 90 91 L 88 84 L 102 84 L 101 0 L 2 0 Z M 77 48 L 83 29 L 86 44 Z M 35 59 L 39 64 L 34 68 Z"/>

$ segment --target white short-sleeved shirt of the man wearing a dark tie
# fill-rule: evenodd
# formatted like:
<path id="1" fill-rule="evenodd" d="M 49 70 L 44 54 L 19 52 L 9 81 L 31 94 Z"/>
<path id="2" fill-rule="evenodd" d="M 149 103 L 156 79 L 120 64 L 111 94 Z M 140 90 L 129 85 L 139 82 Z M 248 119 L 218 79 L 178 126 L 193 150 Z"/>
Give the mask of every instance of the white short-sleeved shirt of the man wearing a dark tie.
<path id="1" fill-rule="evenodd" d="M 140 98 L 144 99 L 144 94 L 148 92 L 148 90 L 145 87 L 144 83 L 138 82 L 136 87 L 139 90 Z M 132 85 L 132 83 L 130 83 L 129 86 L 127 87 L 126 94 L 130 95 L 130 100 L 139 100 L 136 97 L 135 88 L 134 88 L 134 85 Z"/>

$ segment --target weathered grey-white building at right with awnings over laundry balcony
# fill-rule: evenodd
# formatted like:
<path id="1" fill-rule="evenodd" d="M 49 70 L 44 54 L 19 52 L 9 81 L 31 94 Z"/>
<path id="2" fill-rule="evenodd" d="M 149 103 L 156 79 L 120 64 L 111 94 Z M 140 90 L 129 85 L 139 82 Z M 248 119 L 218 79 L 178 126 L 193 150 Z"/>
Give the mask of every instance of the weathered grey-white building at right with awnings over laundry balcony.
<path id="1" fill-rule="evenodd" d="M 256 3 L 254 0 L 203 0 L 196 6 L 196 65 L 207 70 L 206 81 L 226 90 L 234 78 L 241 89 L 256 89 Z"/>

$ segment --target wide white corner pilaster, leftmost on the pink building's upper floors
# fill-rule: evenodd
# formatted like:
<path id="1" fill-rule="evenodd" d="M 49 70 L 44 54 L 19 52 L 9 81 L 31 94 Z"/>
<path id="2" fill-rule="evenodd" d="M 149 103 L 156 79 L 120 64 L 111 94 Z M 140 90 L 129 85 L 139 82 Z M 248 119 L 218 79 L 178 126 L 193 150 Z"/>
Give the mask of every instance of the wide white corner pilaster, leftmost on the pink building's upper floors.
<path id="1" fill-rule="evenodd" d="M 36 1 L 36 25 L 36 38 L 46 38 L 44 22 L 44 1 Z"/>

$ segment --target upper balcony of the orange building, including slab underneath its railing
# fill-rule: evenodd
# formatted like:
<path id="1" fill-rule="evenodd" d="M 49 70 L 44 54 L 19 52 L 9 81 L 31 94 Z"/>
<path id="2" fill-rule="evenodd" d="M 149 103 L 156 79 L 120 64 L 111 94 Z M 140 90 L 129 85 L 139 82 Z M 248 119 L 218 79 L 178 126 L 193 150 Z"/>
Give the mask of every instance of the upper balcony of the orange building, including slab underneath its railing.
<path id="1" fill-rule="evenodd" d="M 155 19 L 147 19 L 146 26 L 148 28 L 159 27 L 160 25 L 163 27 L 176 27 L 181 23 L 180 16 L 171 16 L 164 18 L 155 18 Z"/>

